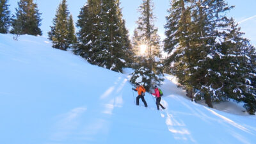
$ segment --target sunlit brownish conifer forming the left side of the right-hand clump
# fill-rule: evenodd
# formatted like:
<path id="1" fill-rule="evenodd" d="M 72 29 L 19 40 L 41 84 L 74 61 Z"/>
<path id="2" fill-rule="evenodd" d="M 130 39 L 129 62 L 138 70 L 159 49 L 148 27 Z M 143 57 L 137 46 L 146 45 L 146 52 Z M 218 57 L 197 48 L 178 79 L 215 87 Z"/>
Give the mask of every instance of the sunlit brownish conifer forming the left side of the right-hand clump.
<path id="1" fill-rule="evenodd" d="M 193 84 L 188 75 L 195 71 L 191 61 L 191 44 L 189 39 L 191 32 L 191 3 L 185 0 L 173 0 L 172 7 L 168 10 L 170 15 L 166 17 L 164 51 L 168 52 L 166 65 L 171 68 L 171 73 L 179 77 L 179 83 L 186 87 L 188 92 L 193 92 Z M 185 8 L 185 4 L 187 8 Z M 191 97 L 191 95 L 189 95 Z"/>

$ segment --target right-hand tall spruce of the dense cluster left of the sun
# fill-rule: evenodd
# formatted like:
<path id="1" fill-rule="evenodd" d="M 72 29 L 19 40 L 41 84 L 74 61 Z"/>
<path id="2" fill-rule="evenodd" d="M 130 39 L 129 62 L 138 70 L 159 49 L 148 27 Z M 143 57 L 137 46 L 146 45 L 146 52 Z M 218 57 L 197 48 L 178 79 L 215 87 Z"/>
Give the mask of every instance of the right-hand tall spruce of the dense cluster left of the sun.
<path id="1" fill-rule="evenodd" d="M 100 12 L 100 48 L 93 56 L 100 67 L 122 72 L 125 66 L 124 44 L 122 43 L 122 31 L 118 19 L 118 7 L 115 0 L 102 0 Z"/>

